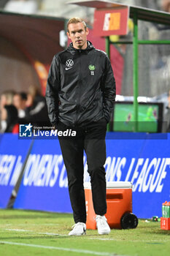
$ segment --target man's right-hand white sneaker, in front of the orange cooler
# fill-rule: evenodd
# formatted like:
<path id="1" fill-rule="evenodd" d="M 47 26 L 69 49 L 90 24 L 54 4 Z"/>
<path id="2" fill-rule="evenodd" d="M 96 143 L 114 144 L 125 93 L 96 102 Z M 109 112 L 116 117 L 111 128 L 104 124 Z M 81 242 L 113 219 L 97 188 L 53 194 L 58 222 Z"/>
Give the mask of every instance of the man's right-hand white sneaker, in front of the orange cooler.
<path id="1" fill-rule="evenodd" d="M 107 235 L 110 233 L 110 228 L 107 223 L 107 218 L 101 215 L 96 215 L 96 226 L 99 235 Z"/>

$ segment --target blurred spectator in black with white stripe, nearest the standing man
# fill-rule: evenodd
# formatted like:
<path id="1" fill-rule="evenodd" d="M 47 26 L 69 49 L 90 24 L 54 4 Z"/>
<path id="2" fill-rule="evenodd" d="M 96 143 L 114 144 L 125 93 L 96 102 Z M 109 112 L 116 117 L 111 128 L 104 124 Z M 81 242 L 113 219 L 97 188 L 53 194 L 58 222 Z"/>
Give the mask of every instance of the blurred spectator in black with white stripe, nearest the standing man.
<path id="1" fill-rule="evenodd" d="M 47 104 L 37 86 L 28 88 L 26 102 L 26 122 L 34 126 L 51 127 L 47 114 Z"/>

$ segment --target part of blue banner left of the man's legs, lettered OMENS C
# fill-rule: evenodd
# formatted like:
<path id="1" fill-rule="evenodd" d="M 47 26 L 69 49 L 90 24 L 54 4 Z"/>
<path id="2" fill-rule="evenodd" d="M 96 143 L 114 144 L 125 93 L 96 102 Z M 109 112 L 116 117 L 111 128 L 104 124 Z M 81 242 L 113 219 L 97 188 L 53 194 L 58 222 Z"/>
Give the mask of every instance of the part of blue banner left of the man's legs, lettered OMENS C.
<path id="1" fill-rule="evenodd" d="M 14 208 L 72 212 L 66 168 L 57 139 L 34 141 Z"/>

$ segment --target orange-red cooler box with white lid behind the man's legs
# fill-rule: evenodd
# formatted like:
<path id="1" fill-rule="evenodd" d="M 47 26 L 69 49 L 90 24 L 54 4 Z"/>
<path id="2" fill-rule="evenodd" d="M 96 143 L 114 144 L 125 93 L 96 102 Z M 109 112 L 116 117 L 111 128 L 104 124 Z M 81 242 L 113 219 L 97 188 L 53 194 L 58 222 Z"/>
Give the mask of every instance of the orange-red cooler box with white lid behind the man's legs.
<path id="1" fill-rule="evenodd" d="M 93 210 L 90 182 L 84 183 L 87 211 L 87 228 L 96 229 L 96 214 Z M 107 222 L 110 228 L 121 228 L 120 219 L 126 212 L 132 212 L 132 184 L 125 181 L 107 182 Z"/>

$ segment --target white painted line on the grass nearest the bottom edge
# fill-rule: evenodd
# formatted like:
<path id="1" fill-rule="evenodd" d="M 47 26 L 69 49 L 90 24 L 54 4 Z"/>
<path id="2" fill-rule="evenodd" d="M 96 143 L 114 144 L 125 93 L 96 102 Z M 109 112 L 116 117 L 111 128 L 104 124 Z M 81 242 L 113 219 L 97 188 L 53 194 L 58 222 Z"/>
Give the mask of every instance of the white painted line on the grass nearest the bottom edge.
<path id="1" fill-rule="evenodd" d="M 89 251 L 89 250 L 63 248 L 63 247 L 55 247 L 55 246 L 43 246 L 43 245 L 39 245 L 39 244 L 23 244 L 23 243 L 15 243 L 15 242 L 8 242 L 8 241 L 0 241 L 0 245 L 1 244 L 11 244 L 11 245 L 18 245 L 18 246 L 29 246 L 29 247 L 42 248 L 42 249 L 56 249 L 56 250 L 59 250 L 59 251 L 78 252 L 78 253 L 84 253 L 84 254 L 87 254 L 87 255 L 125 256 L 125 255 L 117 255 L 117 253 L 93 252 L 93 251 Z"/>

